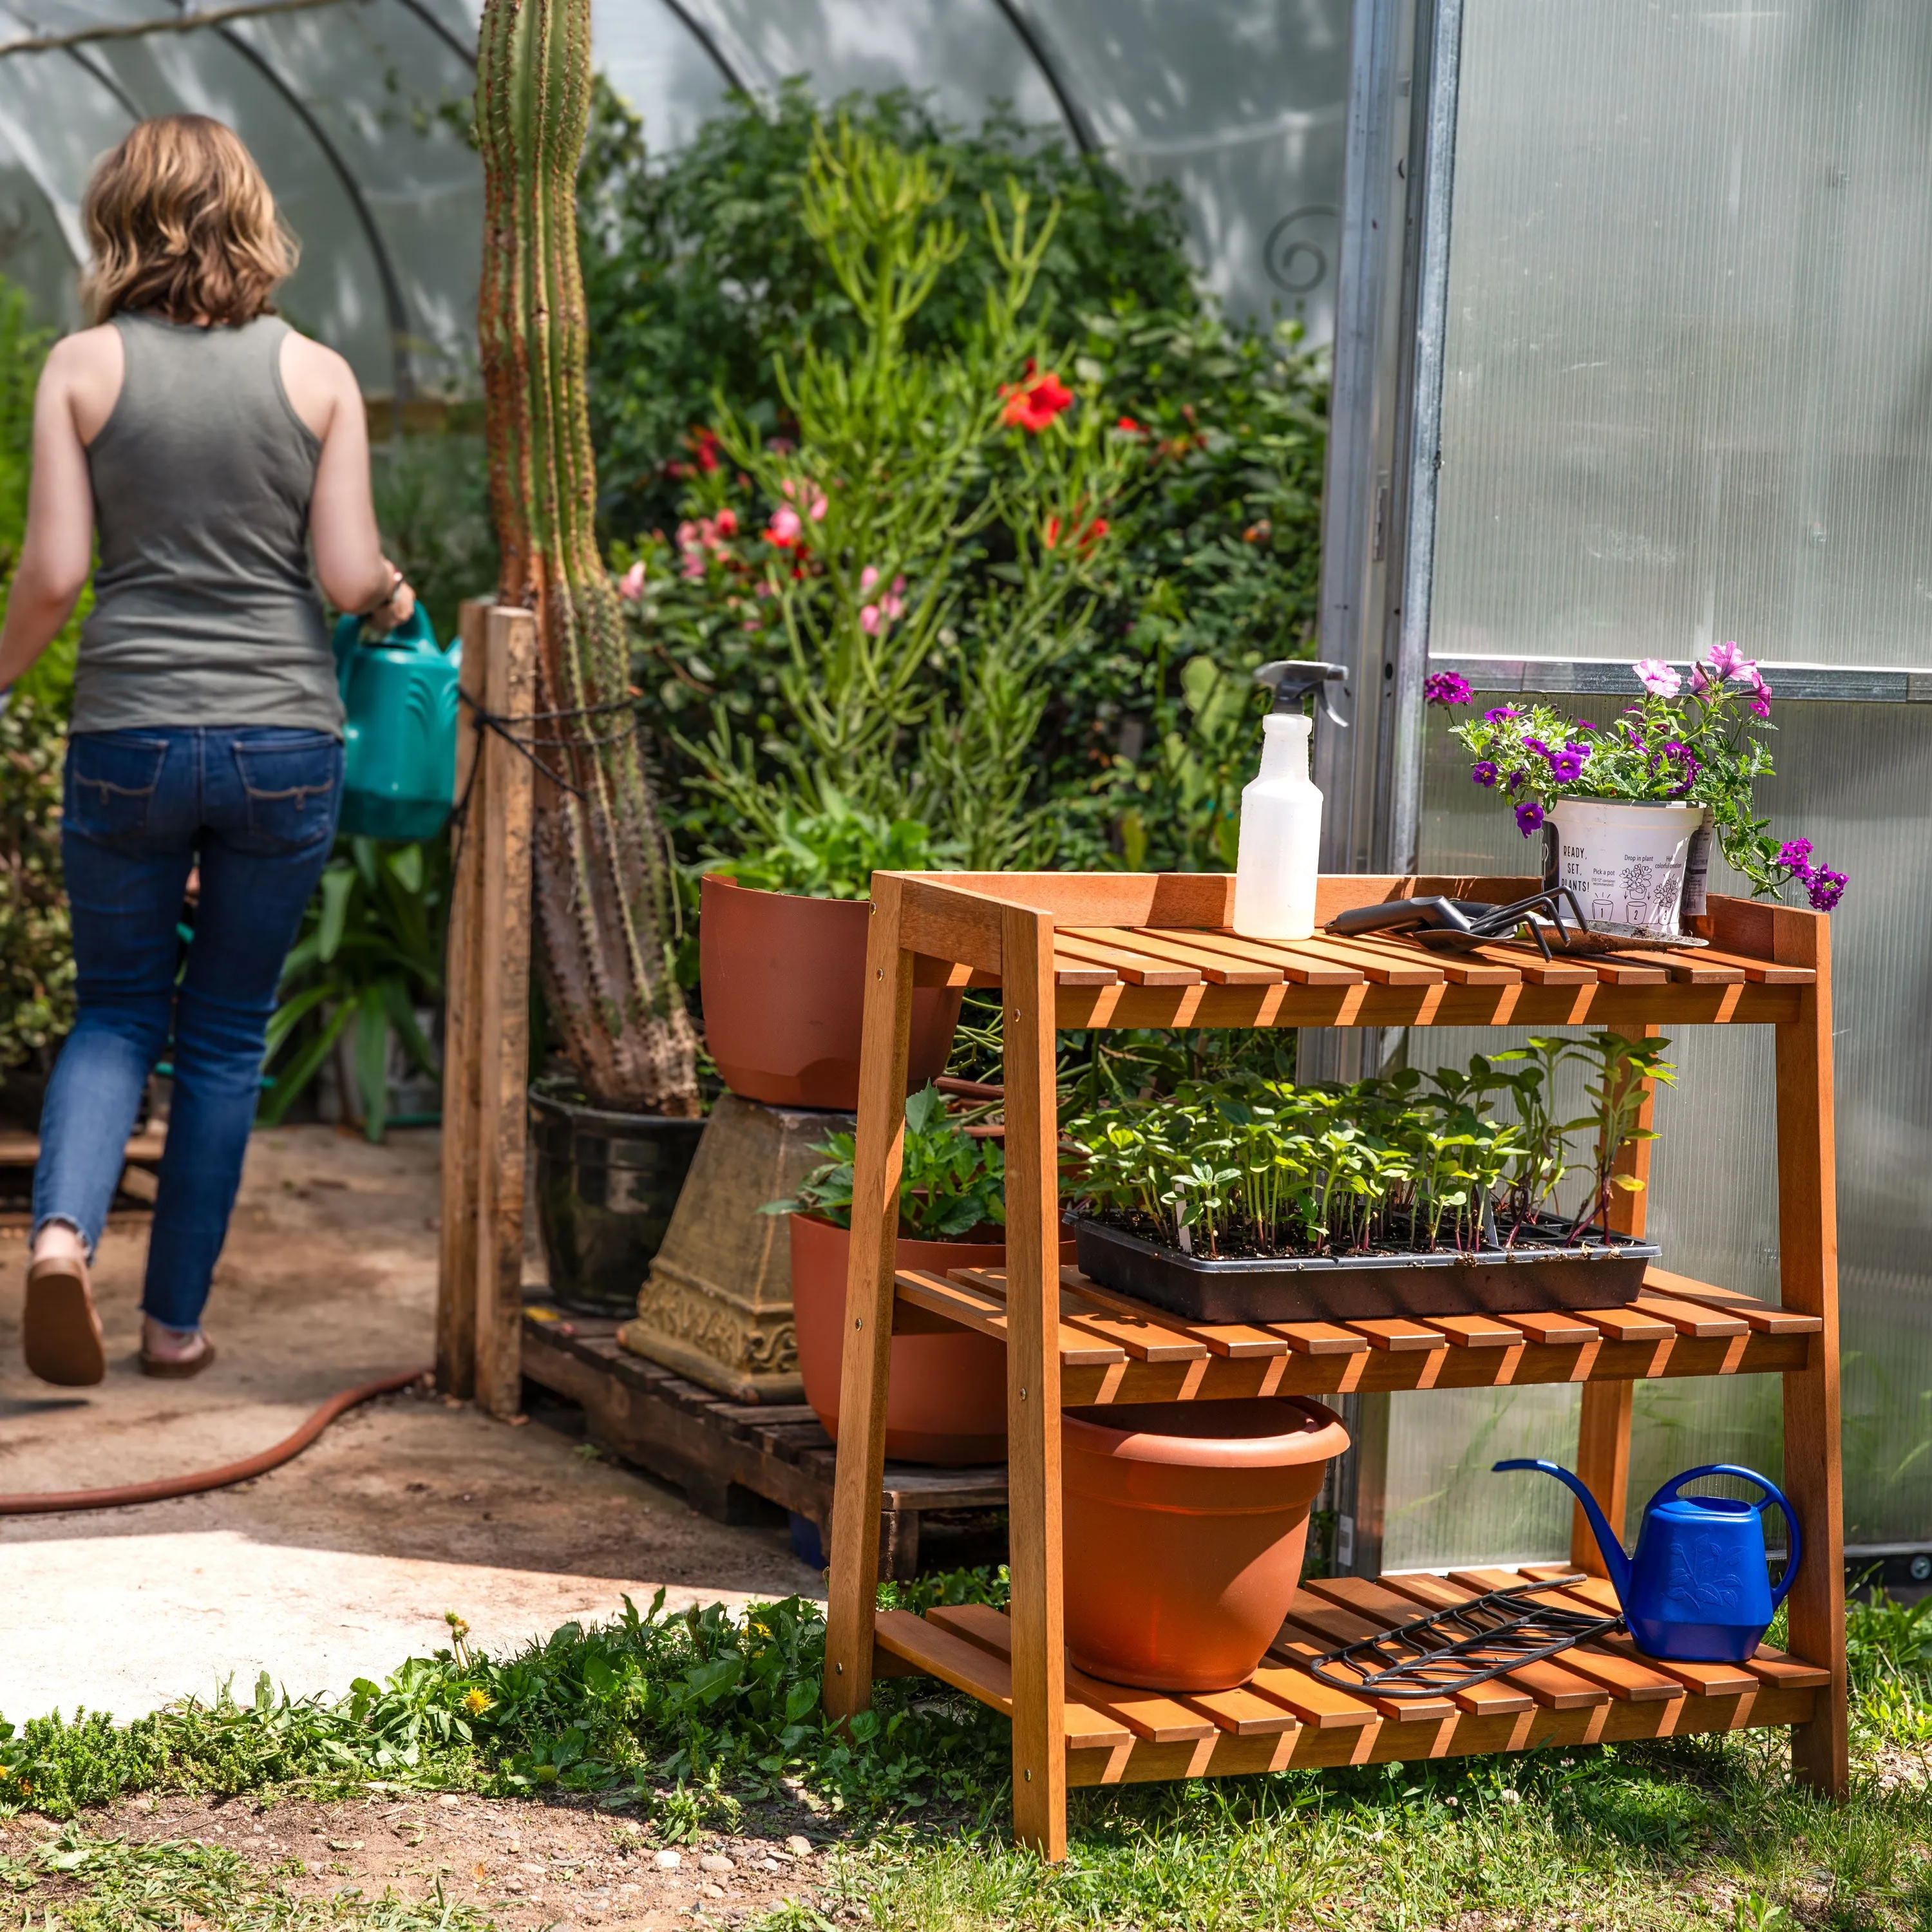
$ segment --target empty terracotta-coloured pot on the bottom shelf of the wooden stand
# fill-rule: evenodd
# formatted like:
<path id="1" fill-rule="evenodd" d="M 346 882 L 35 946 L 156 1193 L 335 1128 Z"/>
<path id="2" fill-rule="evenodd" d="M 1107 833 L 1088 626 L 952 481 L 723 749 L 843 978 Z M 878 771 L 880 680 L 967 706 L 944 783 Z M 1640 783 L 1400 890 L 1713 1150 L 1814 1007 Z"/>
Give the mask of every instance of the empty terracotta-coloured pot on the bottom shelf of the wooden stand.
<path id="1" fill-rule="evenodd" d="M 1246 1683 L 1302 1580 L 1349 1432 L 1300 1395 L 1068 1408 L 1066 1654 L 1153 1690 Z"/>

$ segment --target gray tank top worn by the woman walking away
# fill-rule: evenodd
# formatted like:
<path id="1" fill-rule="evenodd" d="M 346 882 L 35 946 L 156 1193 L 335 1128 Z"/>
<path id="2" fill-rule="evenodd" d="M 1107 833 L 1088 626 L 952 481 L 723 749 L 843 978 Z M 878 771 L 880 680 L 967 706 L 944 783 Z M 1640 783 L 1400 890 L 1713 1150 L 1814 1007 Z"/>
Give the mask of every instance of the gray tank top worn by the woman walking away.
<path id="1" fill-rule="evenodd" d="M 100 566 L 73 730 L 282 724 L 342 734 L 309 576 L 321 439 L 282 388 L 288 325 L 116 315 L 122 388 L 87 446 Z"/>

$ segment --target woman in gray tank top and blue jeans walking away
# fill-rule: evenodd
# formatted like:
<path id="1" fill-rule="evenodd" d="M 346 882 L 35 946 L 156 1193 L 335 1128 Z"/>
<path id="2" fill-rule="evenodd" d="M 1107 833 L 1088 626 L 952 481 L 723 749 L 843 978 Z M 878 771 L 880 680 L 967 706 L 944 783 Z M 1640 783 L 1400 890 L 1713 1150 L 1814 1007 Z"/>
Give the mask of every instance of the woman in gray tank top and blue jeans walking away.
<path id="1" fill-rule="evenodd" d="M 0 630 L 4 703 L 66 624 L 99 535 L 62 821 L 79 1018 L 46 1092 L 25 1314 L 27 1366 L 70 1387 L 106 1374 L 87 1264 L 162 1055 L 174 1105 L 141 1370 L 214 1360 L 201 1308 L 342 786 L 311 545 L 340 609 L 392 628 L 415 601 L 377 539 L 355 377 L 269 307 L 296 251 L 242 141 L 201 114 L 141 122 L 95 170 L 83 220 L 97 327 L 41 375 Z"/>

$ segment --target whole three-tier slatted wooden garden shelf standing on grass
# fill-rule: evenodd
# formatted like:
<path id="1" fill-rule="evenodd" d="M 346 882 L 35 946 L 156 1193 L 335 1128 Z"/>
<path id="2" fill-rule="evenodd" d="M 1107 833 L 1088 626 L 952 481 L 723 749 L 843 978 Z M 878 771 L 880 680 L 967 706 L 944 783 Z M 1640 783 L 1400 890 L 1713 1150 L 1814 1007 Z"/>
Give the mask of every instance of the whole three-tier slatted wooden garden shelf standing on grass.
<path id="1" fill-rule="evenodd" d="M 1530 879 L 1325 877 L 1316 923 L 1445 893 L 1513 900 Z M 1443 956 L 1401 939 L 1273 945 L 1229 931 L 1233 879 L 1177 873 L 875 873 L 854 1165 L 825 1706 L 866 1706 L 873 1673 L 931 1671 L 1012 1718 L 1018 1835 L 1066 1843 L 1066 1787 L 1285 1764 L 1430 1758 L 1741 1725 L 1791 1725 L 1810 1785 L 1847 1789 L 1837 1231 L 1830 925 L 1714 898 L 1708 947 L 1544 960 L 1520 945 Z M 895 1273 L 898 1142 L 914 985 L 997 985 L 1007 1117 L 1007 1267 Z M 1055 1036 L 1132 1026 L 1590 1026 L 1631 1037 L 1770 1026 L 1776 1041 L 1779 1304 L 1650 1269 L 1629 1308 L 1403 1321 L 1186 1323 L 1059 1260 Z M 1650 1124 L 1646 1101 L 1642 1124 Z M 1648 1173 L 1648 1142 L 1623 1167 Z M 1613 1208 L 1640 1235 L 1644 1194 Z M 893 1333 L 964 1325 L 1007 1349 L 1010 1619 L 875 1611 Z M 1097 1685 L 1065 1663 L 1061 1410 L 1577 1381 L 1577 1466 L 1611 1522 L 1627 1513 L 1631 1391 L 1660 1376 L 1783 1376 L 1783 1488 L 1806 1559 L 1789 1596 L 1793 1656 L 1743 1669 L 1660 1665 L 1629 1640 L 1563 1652 L 1445 1702 L 1374 1706 L 1298 1660 L 1526 1573 L 1310 1582 L 1254 1681 L 1209 1698 Z M 1580 1524 L 1571 1569 L 1602 1578 Z M 1578 1594 L 1602 1596 L 1592 1580 Z M 1447 1592 L 1447 1596 L 1445 1596 Z M 1799 1662 L 1816 1660 L 1816 1662 Z"/>

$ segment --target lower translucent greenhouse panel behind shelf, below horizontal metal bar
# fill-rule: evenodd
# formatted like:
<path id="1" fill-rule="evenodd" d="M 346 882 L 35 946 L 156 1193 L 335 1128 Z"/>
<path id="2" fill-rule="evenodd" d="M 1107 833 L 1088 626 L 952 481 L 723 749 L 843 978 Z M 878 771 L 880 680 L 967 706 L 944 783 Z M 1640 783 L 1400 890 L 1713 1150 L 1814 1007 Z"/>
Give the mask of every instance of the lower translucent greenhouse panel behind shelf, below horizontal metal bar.
<path id="1" fill-rule="evenodd" d="M 1567 699 L 1557 699 L 1567 703 Z M 1598 703 L 1598 699 L 1590 699 Z M 1781 705 L 1764 810 L 1779 837 L 1804 833 L 1853 885 L 1832 918 L 1837 1088 L 1839 1314 L 1845 1358 L 1845 1538 L 1932 1542 L 1932 1005 L 1924 908 L 1932 848 L 1899 800 L 1932 771 L 1932 707 Z M 1534 871 L 1495 794 L 1470 784 L 1468 759 L 1432 713 L 1422 869 Z M 1714 866 L 1716 891 L 1743 885 Z M 1464 1063 L 1515 1043 L 1505 1030 L 1412 1030 L 1416 1066 Z M 1760 1028 L 1683 1028 L 1679 1084 L 1658 1097 L 1650 1233 L 1663 1265 L 1777 1300 L 1772 1039 Z M 1470 1391 L 1393 1399 L 1387 1567 L 1501 1557 L 1559 1559 L 1569 1515 L 1482 1472 L 1503 1453 L 1575 1459 L 1571 1391 Z M 1519 1432 L 1519 1434 L 1513 1434 Z M 1532 1447 L 1503 1449 L 1497 1443 Z M 1493 1453 L 1492 1453 L 1493 1449 Z M 1638 1383 L 1631 1443 L 1633 1513 L 1665 1476 L 1735 1461 L 1776 1476 L 1779 1383 Z M 1634 1520 L 1634 1519 L 1633 1519 Z"/>

